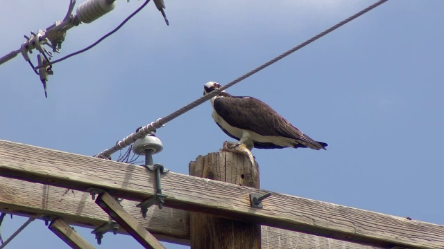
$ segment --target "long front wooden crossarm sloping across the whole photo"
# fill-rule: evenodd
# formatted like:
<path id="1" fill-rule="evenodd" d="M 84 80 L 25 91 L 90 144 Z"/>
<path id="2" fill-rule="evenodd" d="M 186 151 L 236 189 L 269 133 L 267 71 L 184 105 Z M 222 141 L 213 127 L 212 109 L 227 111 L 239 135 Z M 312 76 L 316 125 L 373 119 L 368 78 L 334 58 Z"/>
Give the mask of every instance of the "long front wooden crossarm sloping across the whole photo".
<path id="1" fill-rule="evenodd" d="M 155 193 L 153 174 L 143 167 L 8 141 L 0 141 L 0 175 L 83 191 L 98 187 L 137 201 Z M 257 210 L 250 208 L 248 196 L 264 190 L 172 172 L 162 176 L 162 187 L 171 208 L 375 246 L 444 246 L 442 225 L 275 192 Z"/>

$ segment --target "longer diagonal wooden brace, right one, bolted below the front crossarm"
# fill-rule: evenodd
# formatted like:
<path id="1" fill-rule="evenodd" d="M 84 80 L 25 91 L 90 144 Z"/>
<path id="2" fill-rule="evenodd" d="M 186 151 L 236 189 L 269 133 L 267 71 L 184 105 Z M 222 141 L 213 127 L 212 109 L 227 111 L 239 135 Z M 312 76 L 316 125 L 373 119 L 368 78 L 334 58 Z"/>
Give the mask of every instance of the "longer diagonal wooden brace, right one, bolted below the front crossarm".
<path id="1" fill-rule="evenodd" d="M 131 234 L 144 248 L 165 248 L 150 232 L 124 210 L 121 205 L 108 192 L 103 192 L 96 199 L 99 205 L 109 216 L 117 221 L 121 228 Z"/>

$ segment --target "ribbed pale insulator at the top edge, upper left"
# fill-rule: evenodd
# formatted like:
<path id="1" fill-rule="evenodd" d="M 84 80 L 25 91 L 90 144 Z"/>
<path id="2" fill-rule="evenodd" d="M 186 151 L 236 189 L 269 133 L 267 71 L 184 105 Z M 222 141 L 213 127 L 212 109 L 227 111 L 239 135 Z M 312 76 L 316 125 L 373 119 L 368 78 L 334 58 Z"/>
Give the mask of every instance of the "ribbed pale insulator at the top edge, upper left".
<path id="1" fill-rule="evenodd" d="M 76 14 L 81 22 L 89 24 L 111 10 L 114 10 L 114 7 L 116 7 L 116 1 L 88 0 L 77 7 Z"/>

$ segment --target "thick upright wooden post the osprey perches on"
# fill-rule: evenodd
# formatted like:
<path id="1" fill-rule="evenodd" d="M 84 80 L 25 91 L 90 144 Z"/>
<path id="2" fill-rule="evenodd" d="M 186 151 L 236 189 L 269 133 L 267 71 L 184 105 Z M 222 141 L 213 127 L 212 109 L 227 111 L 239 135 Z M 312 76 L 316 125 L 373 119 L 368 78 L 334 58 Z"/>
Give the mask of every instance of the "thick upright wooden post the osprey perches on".
<path id="1" fill-rule="evenodd" d="M 259 166 L 253 169 L 246 156 L 232 152 L 198 156 L 189 163 L 189 174 L 225 183 L 259 188 Z M 261 226 L 190 212 L 191 249 L 261 248 Z"/>

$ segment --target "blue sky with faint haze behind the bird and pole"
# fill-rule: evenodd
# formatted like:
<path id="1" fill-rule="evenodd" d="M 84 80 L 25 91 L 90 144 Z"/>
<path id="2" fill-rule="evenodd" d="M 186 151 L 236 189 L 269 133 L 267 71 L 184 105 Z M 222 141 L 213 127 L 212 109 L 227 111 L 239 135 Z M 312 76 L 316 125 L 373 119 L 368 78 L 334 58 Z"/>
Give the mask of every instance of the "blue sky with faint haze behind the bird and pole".
<path id="1" fill-rule="evenodd" d="M 62 19 L 67 2 L 3 3 L 0 55 Z M 226 84 L 373 2 L 167 0 L 170 26 L 148 3 L 112 37 L 55 64 L 48 99 L 22 57 L 2 64 L 0 139 L 97 154 L 199 98 L 206 82 Z M 118 1 L 108 15 L 72 28 L 54 59 L 92 44 L 141 4 Z M 262 189 L 443 225 L 443 8 L 438 0 L 388 1 L 228 89 L 263 100 L 329 144 L 327 151 L 254 149 Z M 214 124 L 210 103 L 157 136 L 164 151 L 155 162 L 182 174 L 231 140 Z M 25 220 L 6 219 L 3 237 Z M 96 245 L 90 230 L 78 231 Z M 9 247 L 50 244 L 67 248 L 35 221 Z M 140 247 L 109 234 L 98 247 L 121 246 Z"/>

